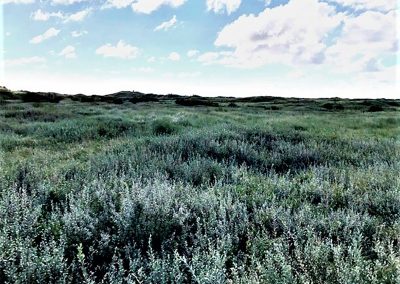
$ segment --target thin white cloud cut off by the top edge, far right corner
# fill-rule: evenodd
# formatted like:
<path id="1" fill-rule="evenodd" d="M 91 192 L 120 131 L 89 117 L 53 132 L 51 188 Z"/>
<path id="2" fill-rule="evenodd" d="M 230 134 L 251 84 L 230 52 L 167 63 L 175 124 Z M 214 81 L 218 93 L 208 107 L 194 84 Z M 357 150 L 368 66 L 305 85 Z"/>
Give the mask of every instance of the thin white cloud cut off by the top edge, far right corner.
<path id="1" fill-rule="evenodd" d="M 377 10 L 388 12 L 396 9 L 396 0 L 328 0 L 355 10 Z"/>

